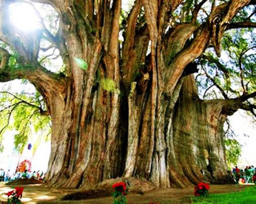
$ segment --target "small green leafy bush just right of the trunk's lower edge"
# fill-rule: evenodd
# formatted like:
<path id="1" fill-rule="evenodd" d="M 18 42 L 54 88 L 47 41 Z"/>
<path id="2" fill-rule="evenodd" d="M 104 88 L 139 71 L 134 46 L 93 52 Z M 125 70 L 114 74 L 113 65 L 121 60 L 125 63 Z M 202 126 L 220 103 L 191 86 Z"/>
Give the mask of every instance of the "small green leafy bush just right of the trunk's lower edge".
<path id="1" fill-rule="evenodd" d="M 236 165 L 241 155 L 241 144 L 236 139 L 225 139 L 227 165 Z"/>

